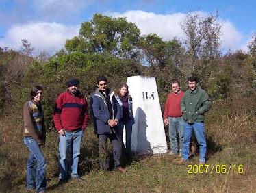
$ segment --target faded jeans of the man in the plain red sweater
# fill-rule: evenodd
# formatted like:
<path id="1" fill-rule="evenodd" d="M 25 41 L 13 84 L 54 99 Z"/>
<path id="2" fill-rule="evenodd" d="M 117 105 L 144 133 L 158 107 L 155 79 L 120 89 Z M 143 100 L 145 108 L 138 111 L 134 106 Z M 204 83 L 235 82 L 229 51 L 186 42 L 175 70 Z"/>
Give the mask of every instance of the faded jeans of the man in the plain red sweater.
<path id="1" fill-rule="evenodd" d="M 170 136 L 170 149 L 172 153 L 178 153 L 177 132 L 179 133 L 179 153 L 182 152 L 182 144 L 184 140 L 184 120 L 182 117 L 171 118 L 169 117 L 169 136 Z"/>

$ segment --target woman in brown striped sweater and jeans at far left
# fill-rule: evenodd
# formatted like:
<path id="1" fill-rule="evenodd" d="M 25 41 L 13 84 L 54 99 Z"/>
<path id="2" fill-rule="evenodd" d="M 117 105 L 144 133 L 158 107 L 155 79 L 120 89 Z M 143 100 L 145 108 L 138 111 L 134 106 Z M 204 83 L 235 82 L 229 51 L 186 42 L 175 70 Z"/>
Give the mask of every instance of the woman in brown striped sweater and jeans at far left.
<path id="1" fill-rule="evenodd" d="M 36 192 L 45 192 L 46 161 L 40 147 L 45 144 L 46 131 L 44 113 L 42 111 L 42 87 L 34 86 L 31 89 L 31 100 L 23 107 L 24 129 L 23 142 L 29 149 L 27 160 L 27 189 L 36 189 Z M 38 163 L 36 166 L 36 162 Z"/>

